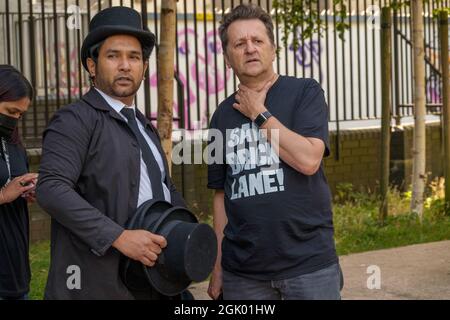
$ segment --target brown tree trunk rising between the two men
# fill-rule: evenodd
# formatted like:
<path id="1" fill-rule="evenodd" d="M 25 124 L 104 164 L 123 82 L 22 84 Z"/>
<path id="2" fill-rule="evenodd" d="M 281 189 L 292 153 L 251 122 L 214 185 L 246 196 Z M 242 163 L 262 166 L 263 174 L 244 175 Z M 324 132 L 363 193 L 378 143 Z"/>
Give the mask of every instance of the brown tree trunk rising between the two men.
<path id="1" fill-rule="evenodd" d="M 172 171 L 173 80 L 176 0 L 161 1 L 161 32 L 158 51 L 158 132 Z"/>

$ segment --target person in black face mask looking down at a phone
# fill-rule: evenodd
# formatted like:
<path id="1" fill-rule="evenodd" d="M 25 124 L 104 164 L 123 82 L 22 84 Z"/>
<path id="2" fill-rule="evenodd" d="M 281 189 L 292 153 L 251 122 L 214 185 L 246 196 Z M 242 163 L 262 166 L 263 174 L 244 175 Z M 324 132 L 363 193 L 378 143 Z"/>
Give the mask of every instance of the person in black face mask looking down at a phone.
<path id="1" fill-rule="evenodd" d="M 37 174 L 28 173 L 17 124 L 32 96 L 17 69 L 0 65 L 0 300 L 27 299 L 29 291 L 27 201 L 35 200 Z"/>

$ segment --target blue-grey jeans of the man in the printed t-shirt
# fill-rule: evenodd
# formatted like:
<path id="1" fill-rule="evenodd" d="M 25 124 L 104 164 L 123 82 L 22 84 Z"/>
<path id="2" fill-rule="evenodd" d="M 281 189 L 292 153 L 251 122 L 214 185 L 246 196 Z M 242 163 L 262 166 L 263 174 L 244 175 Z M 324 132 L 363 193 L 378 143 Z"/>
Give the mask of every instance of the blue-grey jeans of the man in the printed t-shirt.
<path id="1" fill-rule="evenodd" d="M 284 280 L 254 280 L 223 270 L 224 300 L 340 300 L 339 263 Z"/>

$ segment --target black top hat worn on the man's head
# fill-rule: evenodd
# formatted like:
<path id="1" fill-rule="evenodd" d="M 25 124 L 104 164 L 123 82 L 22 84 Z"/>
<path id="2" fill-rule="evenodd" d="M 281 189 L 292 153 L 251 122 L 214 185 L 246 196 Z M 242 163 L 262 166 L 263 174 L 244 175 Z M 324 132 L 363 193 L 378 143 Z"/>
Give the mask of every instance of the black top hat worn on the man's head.
<path id="1" fill-rule="evenodd" d="M 89 33 L 81 47 L 81 62 L 86 70 L 88 70 L 86 60 L 90 57 L 91 47 L 117 34 L 135 36 L 141 42 L 142 50 L 148 54 L 155 46 L 155 35 L 142 26 L 139 12 L 128 7 L 106 8 L 99 11 L 89 22 Z"/>

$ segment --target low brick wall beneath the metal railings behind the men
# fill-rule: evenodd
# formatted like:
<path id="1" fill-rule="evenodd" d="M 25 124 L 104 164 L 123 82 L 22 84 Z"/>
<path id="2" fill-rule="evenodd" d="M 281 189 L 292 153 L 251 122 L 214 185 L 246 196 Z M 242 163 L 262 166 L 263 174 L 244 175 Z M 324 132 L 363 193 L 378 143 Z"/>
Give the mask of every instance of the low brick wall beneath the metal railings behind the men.
<path id="1" fill-rule="evenodd" d="M 428 124 L 427 171 L 430 179 L 443 175 L 442 135 L 439 123 Z M 380 170 L 380 129 L 345 130 L 339 134 L 339 159 L 336 160 L 336 133 L 330 133 L 331 156 L 325 159 L 325 173 L 332 192 L 340 183 L 352 183 L 355 188 L 376 190 Z M 391 139 L 391 183 L 407 187 L 411 183 L 413 127 L 396 129 Z M 196 148 L 192 148 L 195 152 Z M 32 170 L 36 171 L 40 151 L 28 150 Z M 194 158 L 193 158 L 194 159 Z M 207 166 L 174 165 L 172 176 L 178 190 L 183 191 L 190 210 L 200 219 L 212 212 L 213 191 L 206 189 Z M 50 220 L 37 205 L 30 207 L 32 241 L 48 239 Z"/>

